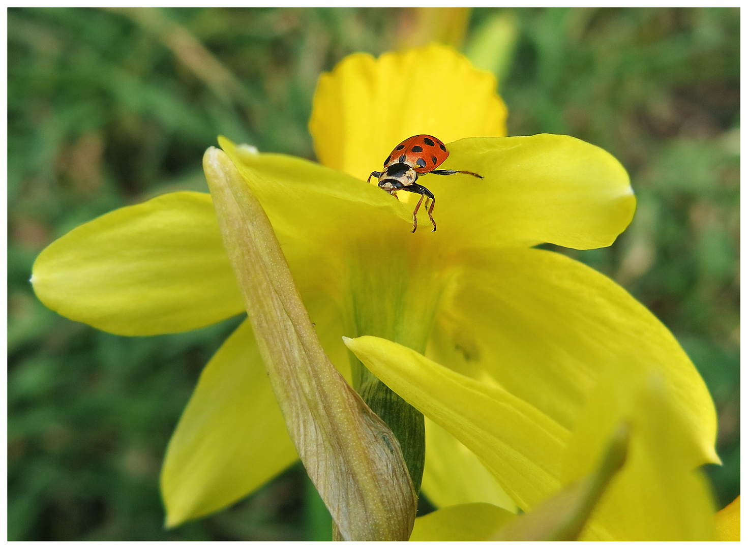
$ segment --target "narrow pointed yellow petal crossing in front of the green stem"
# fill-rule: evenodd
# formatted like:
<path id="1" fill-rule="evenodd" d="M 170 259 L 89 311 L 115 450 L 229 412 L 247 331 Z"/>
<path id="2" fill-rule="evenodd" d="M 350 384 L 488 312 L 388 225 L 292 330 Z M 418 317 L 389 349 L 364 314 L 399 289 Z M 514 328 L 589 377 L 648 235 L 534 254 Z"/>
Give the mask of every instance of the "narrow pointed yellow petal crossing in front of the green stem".
<path id="1" fill-rule="evenodd" d="M 472 450 L 521 509 L 558 491 L 568 431 L 550 417 L 397 343 L 345 341 L 387 387 Z"/>

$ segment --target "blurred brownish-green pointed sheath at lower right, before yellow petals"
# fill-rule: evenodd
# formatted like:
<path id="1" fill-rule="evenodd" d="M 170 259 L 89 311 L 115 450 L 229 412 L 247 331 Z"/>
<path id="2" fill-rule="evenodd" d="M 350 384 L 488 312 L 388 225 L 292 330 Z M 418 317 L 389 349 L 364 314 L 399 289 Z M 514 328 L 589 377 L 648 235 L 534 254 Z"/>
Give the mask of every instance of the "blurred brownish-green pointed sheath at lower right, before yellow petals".
<path id="1" fill-rule="evenodd" d="M 562 489 L 527 515 L 521 515 L 507 524 L 494 536 L 494 540 L 576 541 L 613 476 L 623 467 L 629 438 L 630 429 L 622 423 L 613 434 L 598 470 Z"/>

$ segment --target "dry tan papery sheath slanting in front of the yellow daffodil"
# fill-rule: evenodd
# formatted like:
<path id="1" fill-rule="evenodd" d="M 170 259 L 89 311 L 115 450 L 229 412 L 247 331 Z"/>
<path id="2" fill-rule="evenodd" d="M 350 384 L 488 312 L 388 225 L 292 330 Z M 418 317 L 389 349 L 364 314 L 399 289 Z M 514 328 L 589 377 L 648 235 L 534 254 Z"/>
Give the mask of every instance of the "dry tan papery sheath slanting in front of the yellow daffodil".
<path id="1" fill-rule="evenodd" d="M 272 225 L 228 156 L 203 167 L 286 427 L 340 537 L 406 541 L 417 496 L 392 432 L 329 361 Z"/>

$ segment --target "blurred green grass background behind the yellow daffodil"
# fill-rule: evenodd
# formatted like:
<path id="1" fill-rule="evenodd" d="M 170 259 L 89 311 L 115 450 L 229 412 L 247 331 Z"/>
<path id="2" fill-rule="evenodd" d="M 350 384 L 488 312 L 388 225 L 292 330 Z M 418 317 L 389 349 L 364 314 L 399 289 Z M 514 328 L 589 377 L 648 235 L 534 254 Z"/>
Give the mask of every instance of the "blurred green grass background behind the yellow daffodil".
<path id="1" fill-rule="evenodd" d="M 165 445 L 239 319 L 117 337 L 46 310 L 28 278 L 78 224 L 206 191 L 219 133 L 313 159 L 319 73 L 429 40 L 497 75 L 509 135 L 574 135 L 628 169 L 639 206 L 613 246 L 548 248 L 613 277 L 678 337 L 720 416 L 717 500 L 738 495 L 738 8 L 10 9 L 7 33 L 9 539 L 329 536 L 300 466 L 162 528 Z"/>

